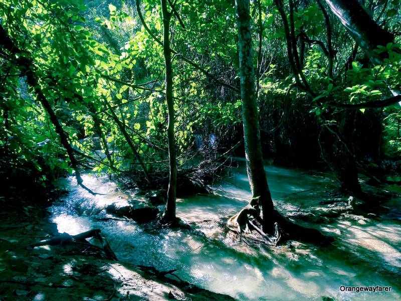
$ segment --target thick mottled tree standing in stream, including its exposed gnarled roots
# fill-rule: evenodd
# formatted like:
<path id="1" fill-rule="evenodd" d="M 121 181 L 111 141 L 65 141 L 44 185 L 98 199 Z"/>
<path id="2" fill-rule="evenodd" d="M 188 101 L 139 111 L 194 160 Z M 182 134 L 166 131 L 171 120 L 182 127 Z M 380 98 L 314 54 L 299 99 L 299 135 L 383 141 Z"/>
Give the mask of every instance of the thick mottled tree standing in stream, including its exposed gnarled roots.
<path id="1" fill-rule="evenodd" d="M 325 241 L 326 237 L 319 231 L 296 225 L 274 209 L 262 156 L 253 66 L 250 1 L 236 0 L 236 14 L 245 159 L 252 199 L 248 206 L 229 219 L 227 226 L 237 232 L 255 230 L 270 243 L 277 243 L 282 235 L 304 241 Z"/>

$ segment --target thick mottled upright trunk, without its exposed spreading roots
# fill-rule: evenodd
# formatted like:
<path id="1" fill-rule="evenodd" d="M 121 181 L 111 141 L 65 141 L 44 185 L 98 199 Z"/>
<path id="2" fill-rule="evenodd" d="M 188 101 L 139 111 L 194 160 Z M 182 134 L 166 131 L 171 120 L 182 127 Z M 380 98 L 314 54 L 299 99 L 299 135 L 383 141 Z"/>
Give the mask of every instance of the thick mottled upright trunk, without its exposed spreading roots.
<path id="1" fill-rule="evenodd" d="M 249 0 L 236 0 L 245 157 L 252 198 L 262 207 L 263 231 L 273 233 L 273 201 L 262 157 L 249 7 Z"/>

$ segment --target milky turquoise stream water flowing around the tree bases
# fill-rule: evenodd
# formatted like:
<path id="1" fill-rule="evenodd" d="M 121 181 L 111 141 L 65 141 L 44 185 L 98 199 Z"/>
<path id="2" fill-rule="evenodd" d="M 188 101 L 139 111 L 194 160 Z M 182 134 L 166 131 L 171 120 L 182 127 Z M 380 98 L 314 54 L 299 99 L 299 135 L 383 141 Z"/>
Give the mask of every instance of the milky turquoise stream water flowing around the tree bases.
<path id="1" fill-rule="evenodd" d="M 316 208 L 332 181 L 324 174 L 266 166 L 276 208 L 283 213 Z M 85 175 L 84 183 L 104 195 L 95 197 L 64 180 L 70 191 L 51 207 L 59 232 L 71 235 L 100 228 L 122 261 L 177 268 L 176 274 L 198 286 L 239 300 L 401 300 L 400 200 L 391 200 L 378 219 L 337 219 L 314 226 L 337 239 L 329 247 L 293 242 L 290 247 L 249 247 L 224 230 L 228 217 L 250 199 L 245 164 L 213 195 L 177 199 L 177 216 L 204 232 L 155 229 L 129 221 L 96 221 L 105 205 L 143 200 L 121 192 L 107 177 Z M 391 286 L 390 292 L 346 292 L 340 286 Z"/>

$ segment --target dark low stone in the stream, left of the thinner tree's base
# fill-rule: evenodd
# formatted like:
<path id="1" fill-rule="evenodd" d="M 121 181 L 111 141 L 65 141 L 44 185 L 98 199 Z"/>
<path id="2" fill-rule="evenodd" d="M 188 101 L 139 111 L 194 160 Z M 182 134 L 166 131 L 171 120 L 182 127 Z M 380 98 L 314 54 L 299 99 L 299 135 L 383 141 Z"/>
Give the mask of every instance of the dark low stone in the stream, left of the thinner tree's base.
<path id="1" fill-rule="evenodd" d="M 139 201 L 132 200 L 128 206 L 119 206 L 116 203 L 108 205 L 106 212 L 118 217 L 130 218 L 136 222 L 150 222 L 154 220 L 159 213 L 155 207 L 146 206 Z"/>

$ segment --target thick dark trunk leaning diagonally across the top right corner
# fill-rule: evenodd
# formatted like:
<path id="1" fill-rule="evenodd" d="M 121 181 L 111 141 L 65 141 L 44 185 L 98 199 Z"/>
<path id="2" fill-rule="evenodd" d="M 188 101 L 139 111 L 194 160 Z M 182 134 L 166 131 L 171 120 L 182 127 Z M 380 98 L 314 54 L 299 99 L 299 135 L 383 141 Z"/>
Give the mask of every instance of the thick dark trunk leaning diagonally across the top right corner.
<path id="1" fill-rule="evenodd" d="M 377 54 L 373 50 L 378 45 L 386 46 L 393 42 L 393 35 L 378 26 L 357 0 L 325 1 L 370 61 L 379 64 L 385 53 Z"/>

